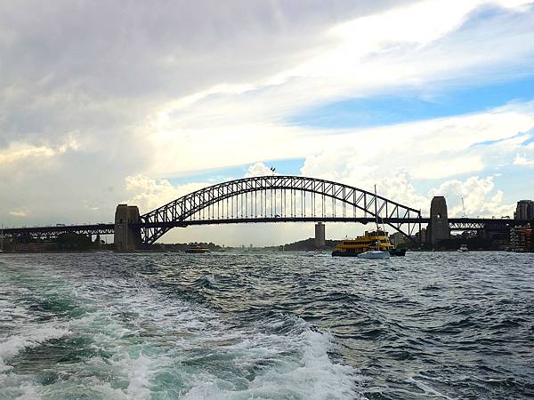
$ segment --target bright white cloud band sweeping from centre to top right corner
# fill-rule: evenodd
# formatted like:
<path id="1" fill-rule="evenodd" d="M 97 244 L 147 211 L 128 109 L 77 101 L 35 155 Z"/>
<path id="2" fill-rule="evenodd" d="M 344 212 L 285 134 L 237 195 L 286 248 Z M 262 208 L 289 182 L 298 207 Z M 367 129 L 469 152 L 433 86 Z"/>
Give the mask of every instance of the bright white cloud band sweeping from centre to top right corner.
<path id="1" fill-rule="evenodd" d="M 310 129 L 285 122 L 303 108 L 414 88 L 432 98 L 432 91 L 455 80 L 481 84 L 481 76 L 492 82 L 502 79 L 499 66 L 503 63 L 513 68 L 516 62 L 519 71 L 534 67 L 534 45 L 525 46 L 534 43 L 534 34 L 528 28 L 534 12 L 494 12 L 490 18 L 475 18 L 473 23 L 467 23 L 480 5 L 481 2 L 421 2 L 344 22 L 324 31 L 331 44 L 328 48 L 311 58 L 304 57 L 295 68 L 268 79 L 251 80 L 247 85 L 212 87 L 198 92 L 190 101 L 168 102 L 160 109 L 158 120 L 162 123 L 150 134 L 151 147 L 158 148 L 152 172 L 173 174 L 178 169 L 200 169 L 201 164 L 217 168 L 258 159 L 310 156 L 317 148 L 331 147 L 337 140 L 334 135 L 346 134 L 346 139 L 339 140 L 352 142 L 360 132 Z M 414 20 L 426 22 L 415 24 Z M 496 47 L 502 52 L 495 52 Z M 450 54 L 455 54 L 454 61 Z M 503 115 L 494 114 L 491 118 L 512 122 L 508 128 L 503 124 L 502 130 L 495 129 L 493 121 L 485 124 L 481 119 L 470 118 L 481 128 L 477 133 L 481 141 L 502 138 L 502 133 L 514 132 L 516 126 L 523 130 L 533 126 L 531 110 L 510 110 L 506 118 L 504 108 L 500 113 Z M 448 121 L 464 123 L 454 118 Z M 490 125 L 493 132 L 488 129 Z M 388 130 L 384 127 L 382 132 L 388 134 Z M 440 132 L 428 133 L 421 143 L 432 148 L 449 146 L 454 152 L 471 139 L 458 130 L 451 131 L 456 137 L 451 138 L 444 126 Z M 402 132 L 405 134 L 409 133 Z M 419 134 L 425 136 L 423 132 Z M 474 130 L 470 134 L 473 136 Z M 403 139 L 388 134 L 387 141 Z M 247 151 L 236 152 L 236 147 Z M 425 152 L 425 148 L 417 146 L 413 151 Z M 204 157 L 200 159 L 198 154 Z M 383 156 L 386 154 L 384 151 Z M 180 159 L 180 166 L 173 164 L 173 159 Z M 471 172 L 483 167 L 477 155 L 470 156 L 469 164 Z"/>

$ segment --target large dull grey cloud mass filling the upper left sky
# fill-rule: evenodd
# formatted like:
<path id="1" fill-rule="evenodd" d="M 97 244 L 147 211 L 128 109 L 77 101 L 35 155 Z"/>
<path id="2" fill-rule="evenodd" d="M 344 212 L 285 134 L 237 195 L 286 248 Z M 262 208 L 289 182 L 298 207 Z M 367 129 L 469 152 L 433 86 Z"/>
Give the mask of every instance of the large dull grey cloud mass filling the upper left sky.
<path id="1" fill-rule="evenodd" d="M 79 208 L 87 202 L 111 210 L 122 195 L 105 189 L 154 156 L 140 127 L 162 102 L 275 75 L 328 46 L 324 32 L 337 22 L 399 3 L 0 3 L 0 152 L 53 153 L 0 165 L 0 218 L 13 207 L 34 219 L 89 219 Z"/>

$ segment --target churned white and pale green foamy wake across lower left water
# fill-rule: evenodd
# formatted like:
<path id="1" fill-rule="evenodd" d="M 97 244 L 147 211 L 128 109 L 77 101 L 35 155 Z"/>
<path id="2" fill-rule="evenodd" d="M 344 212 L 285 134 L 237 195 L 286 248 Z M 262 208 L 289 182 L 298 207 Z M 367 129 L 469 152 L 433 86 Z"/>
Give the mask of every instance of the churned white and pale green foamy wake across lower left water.
<path id="1" fill-rule="evenodd" d="M 216 283 L 211 276 L 206 279 Z M 141 279 L 134 286 L 131 279 L 102 279 L 98 284 L 78 285 L 72 293 L 92 312 L 61 325 L 22 324 L 24 332 L 0 343 L 0 371 L 7 372 L 10 367 L 4 360 L 23 348 L 82 334 L 91 337 L 95 351 L 110 356 L 70 365 L 68 380 L 46 390 L 61 387 L 62 393 L 68 393 L 71 386 L 84 387 L 88 393 L 113 399 L 150 398 L 156 391 L 174 396 L 169 393 L 177 389 L 168 387 L 168 380 L 157 386 L 158 373 L 165 372 L 185 386 L 186 399 L 356 396 L 355 371 L 328 358 L 333 346 L 329 335 L 312 331 L 299 318 L 277 320 L 267 327 L 262 325 L 265 322 L 238 327 L 206 308 L 161 295 Z M 277 327 L 284 324 L 295 329 L 265 333 L 278 332 Z M 211 357 L 223 371 L 214 372 L 214 364 L 207 361 Z M 0 373 L 0 386 L 2 375 L 8 373 Z M 14 374 L 9 375 L 15 382 Z M 19 385 L 31 381 L 17 379 Z M 32 390 L 38 395 L 31 386 L 25 390 L 24 396 Z"/>

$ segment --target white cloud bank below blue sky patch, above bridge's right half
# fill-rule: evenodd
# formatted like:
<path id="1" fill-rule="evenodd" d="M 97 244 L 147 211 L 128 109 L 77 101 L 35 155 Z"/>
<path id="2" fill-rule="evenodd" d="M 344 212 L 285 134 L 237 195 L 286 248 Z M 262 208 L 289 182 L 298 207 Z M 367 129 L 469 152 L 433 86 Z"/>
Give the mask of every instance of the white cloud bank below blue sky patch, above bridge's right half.
<path id="1" fill-rule="evenodd" d="M 404 170 L 417 180 L 437 180 L 496 169 L 512 162 L 522 135 L 534 126 L 531 105 L 497 108 L 481 114 L 437 118 L 409 124 L 346 132 L 306 156 L 302 172 L 372 187 L 392 172 Z M 474 146 L 484 140 L 496 140 Z"/>

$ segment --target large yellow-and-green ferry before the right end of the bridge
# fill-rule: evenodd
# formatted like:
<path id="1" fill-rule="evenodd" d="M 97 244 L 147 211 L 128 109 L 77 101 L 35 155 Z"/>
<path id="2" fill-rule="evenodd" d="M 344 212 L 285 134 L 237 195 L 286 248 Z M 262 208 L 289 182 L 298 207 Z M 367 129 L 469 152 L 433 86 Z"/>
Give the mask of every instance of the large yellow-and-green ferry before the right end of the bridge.
<path id="1" fill-rule="evenodd" d="M 395 249 L 391 244 L 387 232 L 382 229 L 366 231 L 363 236 L 355 239 L 346 239 L 340 244 L 336 244 L 336 250 L 332 252 L 333 256 L 338 257 L 357 257 L 362 252 L 388 252 L 393 256 L 403 256 L 406 249 Z"/>

